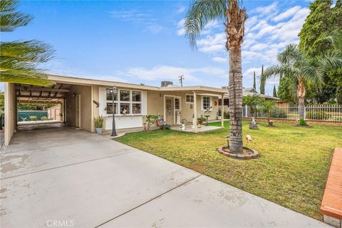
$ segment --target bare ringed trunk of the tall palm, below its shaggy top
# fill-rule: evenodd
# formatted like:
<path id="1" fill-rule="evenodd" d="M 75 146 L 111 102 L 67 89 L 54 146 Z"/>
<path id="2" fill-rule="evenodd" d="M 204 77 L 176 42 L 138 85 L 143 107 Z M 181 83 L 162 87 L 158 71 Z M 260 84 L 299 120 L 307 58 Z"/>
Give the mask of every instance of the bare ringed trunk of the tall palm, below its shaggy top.
<path id="1" fill-rule="evenodd" d="M 241 49 L 229 48 L 229 151 L 242 152 L 242 66 Z"/>

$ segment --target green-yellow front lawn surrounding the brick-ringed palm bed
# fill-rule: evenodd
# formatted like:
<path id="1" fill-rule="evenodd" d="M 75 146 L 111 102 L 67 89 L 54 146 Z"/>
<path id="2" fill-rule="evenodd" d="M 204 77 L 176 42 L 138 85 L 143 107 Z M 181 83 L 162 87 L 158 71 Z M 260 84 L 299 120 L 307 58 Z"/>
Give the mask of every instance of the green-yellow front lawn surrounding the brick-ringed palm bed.
<path id="1" fill-rule="evenodd" d="M 213 123 L 212 125 L 220 125 Z M 224 130 L 182 133 L 172 130 L 130 133 L 119 142 L 137 147 L 179 165 L 189 167 L 254 195 L 269 199 L 315 219 L 322 219 L 319 206 L 326 184 L 333 148 L 342 146 L 342 128 L 314 125 L 296 128 L 276 123 L 279 128 L 249 130 L 249 147 L 259 151 L 257 160 L 235 160 L 216 149 L 227 142 Z"/>

